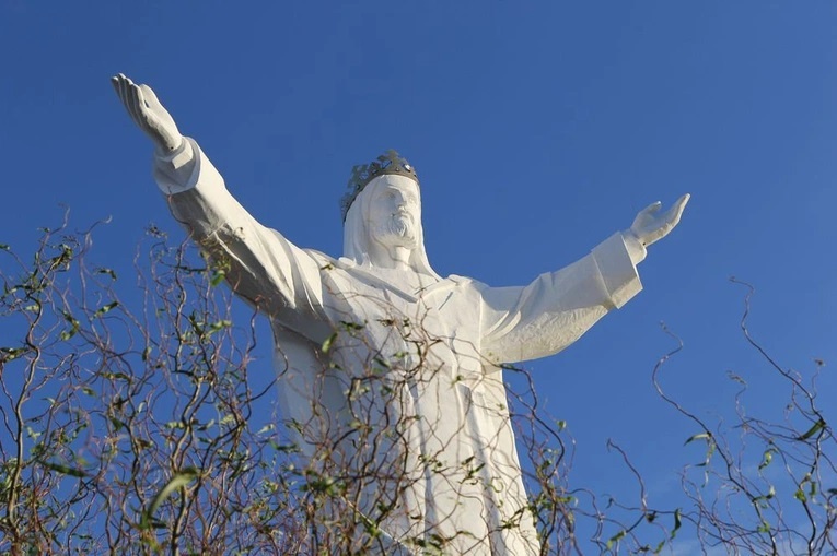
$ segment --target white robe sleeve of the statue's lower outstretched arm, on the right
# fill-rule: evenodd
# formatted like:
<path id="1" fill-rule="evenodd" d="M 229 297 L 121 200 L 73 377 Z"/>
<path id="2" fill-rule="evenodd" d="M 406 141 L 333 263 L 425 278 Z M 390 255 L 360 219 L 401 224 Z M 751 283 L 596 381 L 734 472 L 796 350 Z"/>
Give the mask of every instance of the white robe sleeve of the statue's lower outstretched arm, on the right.
<path id="1" fill-rule="evenodd" d="M 483 355 L 493 364 L 560 352 L 642 289 L 644 248 L 614 234 L 583 259 L 524 287 L 481 288 Z"/>

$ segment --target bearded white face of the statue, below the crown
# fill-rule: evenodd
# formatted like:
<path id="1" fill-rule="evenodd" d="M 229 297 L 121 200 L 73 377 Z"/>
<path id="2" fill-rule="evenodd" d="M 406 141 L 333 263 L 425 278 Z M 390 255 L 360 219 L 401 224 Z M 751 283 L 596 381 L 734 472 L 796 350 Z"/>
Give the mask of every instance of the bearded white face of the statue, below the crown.
<path id="1" fill-rule="evenodd" d="M 377 179 L 367 215 L 371 239 L 385 247 L 415 248 L 421 218 L 418 184 L 404 176 Z"/>

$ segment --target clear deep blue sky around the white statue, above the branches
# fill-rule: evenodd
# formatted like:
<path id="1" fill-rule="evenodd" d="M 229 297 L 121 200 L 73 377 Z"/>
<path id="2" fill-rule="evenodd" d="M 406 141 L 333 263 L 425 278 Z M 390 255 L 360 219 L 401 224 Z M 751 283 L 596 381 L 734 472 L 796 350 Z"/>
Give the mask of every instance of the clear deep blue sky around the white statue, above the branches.
<path id="1" fill-rule="evenodd" d="M 822 397 L 837 394 L 833 1 L 0 0 L 0 242 L 21 251 L 60 203 L 78 228 L 113 217 L 93 258 L 117 269 L 150 222 L 179 233 L 116 72 L 154 87 L 260 222 L 334 256 L 351 166 L 390 147 L 421 176 L 431 264 L 491 285 L 557 270 L 690 192 L 640 267 L 643 293 L 526 366 L 577 439 L 579 486 L 623 488 L 608 438 L 661 497 L 699 459 L 650 382 L 674 346 L 661 321 L 685 342 L 664 382 L 696 413 L 729 412 L 728 370 L 753 411 L 777 393 L 739 332 L 732 275 L 756 287 L 754 335 L 787 367 L 824 359 Z"/>

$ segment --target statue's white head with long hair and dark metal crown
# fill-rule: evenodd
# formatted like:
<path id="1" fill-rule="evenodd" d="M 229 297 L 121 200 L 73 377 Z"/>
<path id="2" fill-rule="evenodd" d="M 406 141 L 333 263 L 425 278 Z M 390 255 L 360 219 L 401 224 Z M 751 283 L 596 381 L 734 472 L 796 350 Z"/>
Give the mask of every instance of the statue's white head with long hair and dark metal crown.
<path id="1" fill-rule="evenodd" d="M 395 151 L 356 166 L 344 197 L 344 256 L 373 264 L 392 249 L 409 251 L 416 272 L 439 277 L 425 251 L 421 194 L 415 168 Z"/>

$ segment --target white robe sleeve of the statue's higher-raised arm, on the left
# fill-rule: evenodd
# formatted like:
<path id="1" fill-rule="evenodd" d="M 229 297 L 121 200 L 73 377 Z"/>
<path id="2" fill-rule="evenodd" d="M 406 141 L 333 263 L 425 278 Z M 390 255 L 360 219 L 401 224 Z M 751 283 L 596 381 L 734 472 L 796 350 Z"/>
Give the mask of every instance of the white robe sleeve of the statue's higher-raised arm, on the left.
<path id="1" fill-rule="evenodd" d="M 158 153 L 154 179 L 174 217 L 225 270 L 240 297 L 310 340 L 328 336 L 319 277 L 325 261 L 259 224 L 194 140 L 185 139 L 174 153 Z"/>

